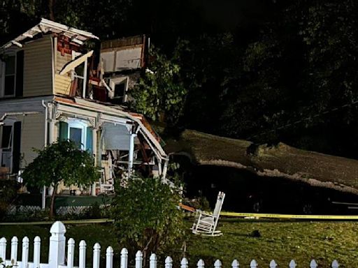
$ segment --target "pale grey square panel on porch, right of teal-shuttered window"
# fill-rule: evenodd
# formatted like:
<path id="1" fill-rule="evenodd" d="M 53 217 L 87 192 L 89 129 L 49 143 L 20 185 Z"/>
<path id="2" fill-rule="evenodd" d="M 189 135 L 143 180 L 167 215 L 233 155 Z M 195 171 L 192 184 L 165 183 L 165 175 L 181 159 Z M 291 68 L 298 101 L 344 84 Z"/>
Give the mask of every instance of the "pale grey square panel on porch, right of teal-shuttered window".
<path id="1" fill-rule="evenodd" d="M 120 124 L 103 124 L 103 147 L 105 150 L 129 150 L 130 133 Z"/>

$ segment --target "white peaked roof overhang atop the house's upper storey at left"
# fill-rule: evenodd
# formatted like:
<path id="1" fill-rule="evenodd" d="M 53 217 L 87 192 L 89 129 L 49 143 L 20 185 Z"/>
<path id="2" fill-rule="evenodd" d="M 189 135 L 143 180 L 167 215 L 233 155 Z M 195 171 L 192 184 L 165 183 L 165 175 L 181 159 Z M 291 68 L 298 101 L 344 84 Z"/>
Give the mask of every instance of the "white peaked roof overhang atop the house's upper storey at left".
<path id="1" fill-rule="evenodd" d="M 64 24 L 60 24 L 58 22 L 52 22 L 52 20 L 41 19 L 41 22 L 36 24 L 36 26 L 32 27 L 31 29 L 25 31 L 17 38 L 10 40 L 8 43 L 0 47 L 1 50 L 5 50 L 8 47 L 16 45 L 17 47 L 22 47 L 24 40 L 27 38 L 34 38 L 37 34 L 48 34 L 48 33 L 55 33 L 55 34 L 62 34 L 68 38 L 73 43 L 78 43 L 82 45 L 86 40 L 90 38 L 99 39 L 94 34 L 88 31 L 82 31 L 80 29 L 76 29 L 73 27 L 68 27 Z"/>

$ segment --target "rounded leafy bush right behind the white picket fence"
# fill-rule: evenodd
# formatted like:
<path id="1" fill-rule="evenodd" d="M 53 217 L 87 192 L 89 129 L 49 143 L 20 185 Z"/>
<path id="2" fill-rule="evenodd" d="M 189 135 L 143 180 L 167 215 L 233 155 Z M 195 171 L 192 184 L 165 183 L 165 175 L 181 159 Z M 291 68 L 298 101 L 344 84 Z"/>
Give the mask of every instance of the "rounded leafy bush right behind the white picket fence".
<path id="1" fill-rule="evenodd" d="M 159 178 L 129 179 L 118 186 L 112 212 L 117 238 L 122 246 L 143 255 L 175 244 L 183 234 L 180 195 Z"/>

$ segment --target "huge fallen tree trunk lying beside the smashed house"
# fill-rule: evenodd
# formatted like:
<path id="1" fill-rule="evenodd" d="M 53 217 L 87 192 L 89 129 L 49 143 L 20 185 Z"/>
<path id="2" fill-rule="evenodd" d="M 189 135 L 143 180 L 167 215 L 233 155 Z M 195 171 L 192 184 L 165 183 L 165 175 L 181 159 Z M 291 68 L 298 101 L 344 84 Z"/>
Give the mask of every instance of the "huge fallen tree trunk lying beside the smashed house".
<path id="1" fill-rule="evenodd" d="M 358 194 L 358 161 L 305 151 L 278 143 L 257 145 L 246 140 L 184 131 L 168 140 L 169 154 L 185 154 L 197 165 L 250 170 L 262 177 L 283 177 L 312 186 Z"/>

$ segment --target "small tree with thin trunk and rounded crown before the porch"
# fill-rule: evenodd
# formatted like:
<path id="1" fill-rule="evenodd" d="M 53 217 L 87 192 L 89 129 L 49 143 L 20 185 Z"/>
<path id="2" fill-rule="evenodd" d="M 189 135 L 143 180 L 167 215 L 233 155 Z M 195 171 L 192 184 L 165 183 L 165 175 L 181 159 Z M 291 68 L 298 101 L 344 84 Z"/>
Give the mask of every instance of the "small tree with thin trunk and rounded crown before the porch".
<path id="1" fill-rule="evenodd" d="M 43 150 L 34 149 L 38 156 L 22 173 L 24 183 L 29 186 L 52 186 L 50 218 L 54 214 L 55 195 L 60 181 L 64 185 L 89 186 L 98 178 L 94 160 L 87 151 L 69 140 L 50 144 Z"/>

